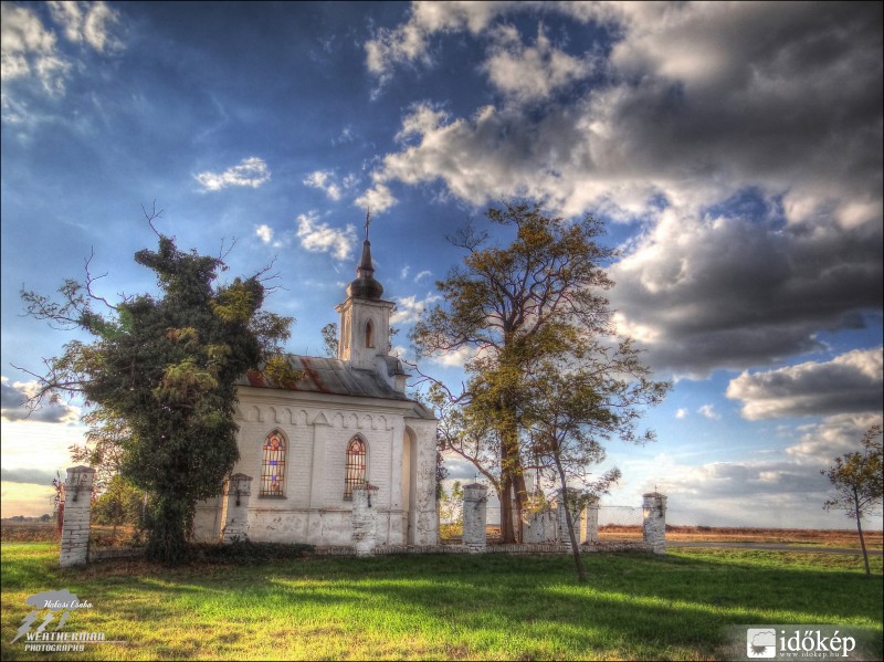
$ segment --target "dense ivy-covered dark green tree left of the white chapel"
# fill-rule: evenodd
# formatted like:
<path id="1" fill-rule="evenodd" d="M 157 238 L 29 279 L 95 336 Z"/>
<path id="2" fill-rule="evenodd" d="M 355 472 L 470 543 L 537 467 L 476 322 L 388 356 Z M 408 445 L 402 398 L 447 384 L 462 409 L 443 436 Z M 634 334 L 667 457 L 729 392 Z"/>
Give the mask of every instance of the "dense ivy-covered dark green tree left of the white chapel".
<path id="1" fill-rule="evenodd" d="M 157 216 L 148 216 L 155 232 Z M 149 495 L 147 556 L 173 565 L 187 557 L 197 501 L 219 492 L 239 458 L 236 379 L 259 366 L 283 383 L 297 376 L 280 354 L 293 319 L 261 309 L 267 270 L 217 284 L 222 258 L 180 251 L 157 235 L 156 251 L 135 254 L 156 273 L 156 296 L 112 305 L 94 293 L 87 260 L 85 282 L 65 281 L 61 303 L 33 292 L 22 297 L 33 317 L 95 338 L 44 359 L 31 404 L 81 393 L 99 424 L 114 422 L 120 474 Z M 93 427 L 93 434 L 102 430 Z"/>

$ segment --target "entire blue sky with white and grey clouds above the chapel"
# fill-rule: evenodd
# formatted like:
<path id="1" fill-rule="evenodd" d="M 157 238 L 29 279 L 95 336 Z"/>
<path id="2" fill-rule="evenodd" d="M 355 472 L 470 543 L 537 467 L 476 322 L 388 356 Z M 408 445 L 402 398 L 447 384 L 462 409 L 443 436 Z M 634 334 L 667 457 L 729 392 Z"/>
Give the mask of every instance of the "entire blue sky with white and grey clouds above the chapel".
<path id="1" fill-rule="evenodd" d="M 101 295 L 152 291 L 143 206 L 180 248 L 235 238 L 230 274 L 275 260 L 312 355 L 370 206 L 409 356 L 445 237 L 522 196 L 606 221 L 619 328 L 675 383 L 607 502 L 849 527 L 819 470 L 882 418 L 882 77 L 881 3 L 3 2 L 3 515 L 51 508 L 83 433 L 82 402 L 23 418 L 21 368 L 77 336 L 19 292 L 93 252 Z"/>

